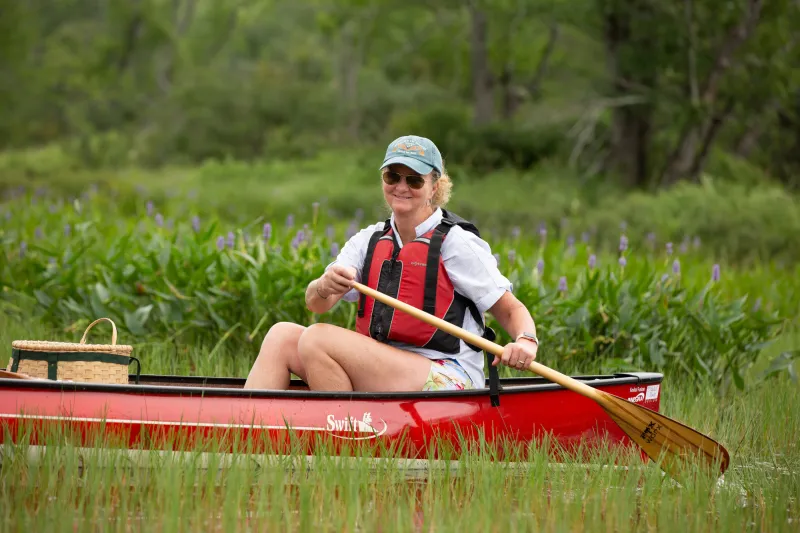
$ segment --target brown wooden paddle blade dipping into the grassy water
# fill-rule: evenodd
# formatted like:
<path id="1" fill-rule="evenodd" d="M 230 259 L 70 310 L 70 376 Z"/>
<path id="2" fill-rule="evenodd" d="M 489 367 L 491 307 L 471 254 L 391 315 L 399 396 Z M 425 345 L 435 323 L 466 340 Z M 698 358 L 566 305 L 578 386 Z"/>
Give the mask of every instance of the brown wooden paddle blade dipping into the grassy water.
<path id="1" fill-rule="evenodd" d="M 611 418 L 661 468 L 675 476 L 687 463 L 699 462 L 725 473 L 728 451 L 718 442 L 647 407 L 603 393 L 600 405 Z"/>

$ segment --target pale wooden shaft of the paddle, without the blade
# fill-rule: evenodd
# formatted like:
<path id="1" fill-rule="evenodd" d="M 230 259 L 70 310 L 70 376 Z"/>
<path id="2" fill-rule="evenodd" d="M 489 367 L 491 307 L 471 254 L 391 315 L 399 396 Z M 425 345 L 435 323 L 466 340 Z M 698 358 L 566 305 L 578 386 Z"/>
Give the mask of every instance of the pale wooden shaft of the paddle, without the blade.
<path id="1" fill-rule="evenodd" d="M 442 320 L 441 318 L 437 318 L 430 313 L 426 313 L 421 309 L 417 309 L 412 305 L 408 305 L 407 303 L 401 302 L 396 298 L 392 298 L 391 296 L 387 296 L 382 292 L 378 292 L 376 290 L 370 289 L 366 285 L 362 285 L 361 283 L 354 282 L 353 287 L 358 290 L 359 292 L 364 293 L 365 295 L 378 300 L 386 305 L 399 309 L 404 313 L 408 313 L 409 315 L 422 320 L 423 322 L 430 324 L 431 326 L 435 326 L 442 331 L 445 331 L 455 337 L 462 339 L 464 342 L 472 344 L 473 346 L 477 346 L 478 348 L 489 352 L 490 354 L 501 356 L 503 354 L 503 347 L 499 344 L 496 344 L 488 339 L 484 339 L 474 333 L 470 333 L 469 331 L 456 326 L 455 324 L 451 324 L 446 320 Z M 606 403 L 605 398 L 601 393 L 599 393 L 596 389 L 586 385 L 585 383 L 581 383 L 577 379 L 573 379 L 557 370 L 553 370 L 552 368 L 546 367 L 541 363 L 537 363 L 536 361 L 532 361 L 531 364 L 527 366 L 527 370 L 539 374 L 543 378 L 552 381 L 554 383 L 558 383 L 564 388 L 567 388 L 573 392 L 591 398 L 596 402 L 599 402 L 601 405 Z"/>

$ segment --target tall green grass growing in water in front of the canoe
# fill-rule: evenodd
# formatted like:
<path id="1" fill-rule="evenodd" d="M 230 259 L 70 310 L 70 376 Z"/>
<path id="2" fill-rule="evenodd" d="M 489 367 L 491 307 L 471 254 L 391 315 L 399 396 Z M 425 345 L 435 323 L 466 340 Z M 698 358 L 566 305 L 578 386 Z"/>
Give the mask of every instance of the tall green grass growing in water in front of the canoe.
<path id="1" fill-rule="evenodd" d="M 663 411 L 725 442 L 724 478 L 618 450 L 554 463 L 518 447 L 401 462 L 6 445 L 2 531 L 796 531 L 800 396 L 784 378 L 720 397 L 665 385 Z M 213 447 L 213 445 L 211 445 Z M 515 455 L 516 454 L 516 455 Z M 602 466 L 603 464 L 618 464 Z"/>

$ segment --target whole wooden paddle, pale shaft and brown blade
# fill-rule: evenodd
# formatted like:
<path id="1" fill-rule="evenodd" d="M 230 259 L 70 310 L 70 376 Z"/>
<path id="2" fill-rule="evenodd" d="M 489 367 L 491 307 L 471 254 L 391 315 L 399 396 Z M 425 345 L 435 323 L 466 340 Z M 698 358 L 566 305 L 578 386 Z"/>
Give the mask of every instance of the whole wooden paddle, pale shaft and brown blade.
<path id="1" fill-rule="evenodd" d="M 503 353 L 503 347 L 499 344 L 436 318 L 421 309 L 372 290 L 361 283 L 355 282 L 353 287 L 371 298 L 408 313 L 493 355 L 500 356 Z M 720 475 L 728 469 L 730 463 L 728 451 L 699 431 L 652 409 L 592 388 L 536 361 L 528 365 L 527 370 L 597 402 L 633 442 L 672 476 L 678 473 L 682 464 L 692 459 L 699 460 L 700 464 L 712 470 L 719 469 Z"/>

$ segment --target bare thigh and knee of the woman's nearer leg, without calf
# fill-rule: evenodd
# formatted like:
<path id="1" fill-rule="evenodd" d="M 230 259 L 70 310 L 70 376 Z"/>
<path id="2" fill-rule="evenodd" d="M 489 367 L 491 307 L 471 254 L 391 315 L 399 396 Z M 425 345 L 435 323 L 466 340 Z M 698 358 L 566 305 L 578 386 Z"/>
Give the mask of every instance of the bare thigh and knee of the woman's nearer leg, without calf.
<path id="1" fill-rule="evenodd" d="M 332 324 L 312 324 L 300 336 L 300 359 L 326 354 L 339 363 L 357 391 L 419 391 L 431 362 L 419 354 L 394 348 Z"/>

